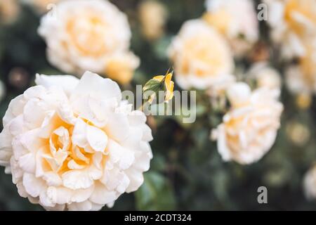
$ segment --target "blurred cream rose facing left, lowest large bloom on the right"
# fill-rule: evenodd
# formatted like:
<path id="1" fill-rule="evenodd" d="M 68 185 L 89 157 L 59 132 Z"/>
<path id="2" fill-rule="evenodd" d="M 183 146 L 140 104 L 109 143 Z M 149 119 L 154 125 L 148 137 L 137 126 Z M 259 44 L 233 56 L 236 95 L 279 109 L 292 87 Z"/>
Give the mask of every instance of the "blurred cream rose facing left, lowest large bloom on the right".
<path id="1" fill-rule="evenodd" d="M 256 162 L 275 143 L 282 103 L 275 91 L 261 88 L 251 92 L 245 83 L 233 84 L 227 93 L 231 108 L 212 134 L 218 152 L 225 161 Z"/>

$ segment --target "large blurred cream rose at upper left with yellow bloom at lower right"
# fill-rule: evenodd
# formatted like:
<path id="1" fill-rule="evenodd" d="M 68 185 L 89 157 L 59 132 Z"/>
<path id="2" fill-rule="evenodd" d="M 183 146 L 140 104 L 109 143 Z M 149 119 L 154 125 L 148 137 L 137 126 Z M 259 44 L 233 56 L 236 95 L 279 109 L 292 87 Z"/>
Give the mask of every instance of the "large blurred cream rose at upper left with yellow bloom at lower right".
<path id="1" fill-rule="evenodd" d="M 60 70 L 90 70 L 123 84 L 133 77 L 139 59 L 129 51 L 131 30 L 126 15 L 103 0 L 70 0 L 57 4 L 55 17 L 41 19 L 48 60 Z"/>

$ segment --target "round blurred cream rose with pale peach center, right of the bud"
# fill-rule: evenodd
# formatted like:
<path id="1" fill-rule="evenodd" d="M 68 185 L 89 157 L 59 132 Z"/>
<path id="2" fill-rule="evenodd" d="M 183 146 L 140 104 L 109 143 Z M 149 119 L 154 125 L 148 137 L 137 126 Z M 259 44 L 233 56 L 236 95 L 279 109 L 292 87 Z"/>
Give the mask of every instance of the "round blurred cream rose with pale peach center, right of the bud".
<path id="1" fill-rule="evenodd" d="M 169 47 L 176 82 L 183 89 L 206 89 L 232 79 L 234 60 L 225 39 L 204 20 L 183 24 Z"/>

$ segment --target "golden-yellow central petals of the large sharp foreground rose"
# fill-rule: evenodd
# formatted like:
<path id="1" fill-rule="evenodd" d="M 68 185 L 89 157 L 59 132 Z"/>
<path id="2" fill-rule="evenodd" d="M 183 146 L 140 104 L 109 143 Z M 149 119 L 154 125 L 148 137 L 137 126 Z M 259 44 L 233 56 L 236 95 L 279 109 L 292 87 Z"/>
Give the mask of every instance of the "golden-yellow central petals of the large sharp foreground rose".
<path id="1" fill-rule="evenodd" d="M 54 128 L 48 139 L 48 148 L 46 149 L 46 154 L 43 155 L 44 164 L 48 166 L 46 169 L 61 175 L 72 169 L 84 169 L 94 163 L 96 151 L 85 140 L 87 129 L 88 127 L 93 127 L 93 123 L 84 119 L 78 120 L 81 120 L 79 132 L 76 131 L 76 129 L 78 130 L 77 124 L 67 124 L 57 116 L 54 119 Z M 93 127 L 93 129 L 98 128 Z M 98 130 L 100 131 L 100 129 Z M 107 139 L 105 133 L 104 135 L 105 139 Z M 75 141 L 74 136 L 79 141 Z M 99 155 L 101 160 L 105 159 L 105 146 L 101 148 Z"/>

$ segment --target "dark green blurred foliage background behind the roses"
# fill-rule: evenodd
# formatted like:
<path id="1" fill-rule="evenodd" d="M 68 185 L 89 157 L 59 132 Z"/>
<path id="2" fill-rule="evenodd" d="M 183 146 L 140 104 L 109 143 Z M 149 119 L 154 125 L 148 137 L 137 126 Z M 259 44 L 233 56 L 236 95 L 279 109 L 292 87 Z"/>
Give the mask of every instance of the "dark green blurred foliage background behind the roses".
<path id="1" fill-rule="evenodd" d="M 172 37 L 186 20 L 199 18 L 205 11 L 203 0 L 159 1 L 166 8 L 166 25 L 160 37 L 148 39 L 140 25 L 142 2 L 112 0 L 129 17 L 131 50 L 141 60 L 131 85 L 122 89 L 164 74 L 171 67 L 166 48 Z M 20 4 L 14 22 L 5 23 L 0 18 L 0 79 L 5 87 L 1 118 L 11 99 L 34 85 L 36 73 L 62 74 L 46 60 L 46 44 L 37 34 L 40 17 L 34 8 Z M 264 21 L 260 22 L 260 29 L 261 44 L 268 46 L 269 30 Z M 275 58 L 273 49 L 268 52 L 270 63 L 283 76 L 284 66 Z M 259 53 L 254 48 L 253 56 Z M 252 60 L 249 56 L 239 63 L 248 67 Z M 145 182 L 136 193 L 121 195 L 110 210 L 316 210 L 316 203 L 306 200 L 302 186 L 305 172 L 316 162 L 314 98 L 308 107 L 301 107 L 296 96 L 283 87 L 284 113 L 275 145 L 259 162 L 239 165 L 220 158 L 209 135 L 221 115 L 211 110 L 204 94 L 198 93 L 197 97 L 201 104 L 193 124 L 182 124 L 179 117 L 148 118 L 154 134 L 150 171 L 145 173 Z M 268 188 L 268 204 L 258 204 L 259 186 Z M 0 210 L 43 209 L 21 198 L 11 175 L 0 168 Z"/>

